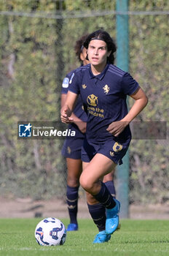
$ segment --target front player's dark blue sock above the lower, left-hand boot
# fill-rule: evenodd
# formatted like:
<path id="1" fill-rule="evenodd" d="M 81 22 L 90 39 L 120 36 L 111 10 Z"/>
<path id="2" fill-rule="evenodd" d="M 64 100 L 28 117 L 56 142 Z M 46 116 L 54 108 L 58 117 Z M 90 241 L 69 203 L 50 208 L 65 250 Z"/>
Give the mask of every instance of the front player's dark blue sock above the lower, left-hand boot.
<path id="1" fill-rule="evenodd" d="M 106 213 L 105 207 L 101 203 L 97 203 L 95 205 L 89 205 L 87 203 L 89 212 L 91 217 L 93 218 L 93 222 L 98 227 L 99 232 L 105 230 L 106 225 Z"/>

